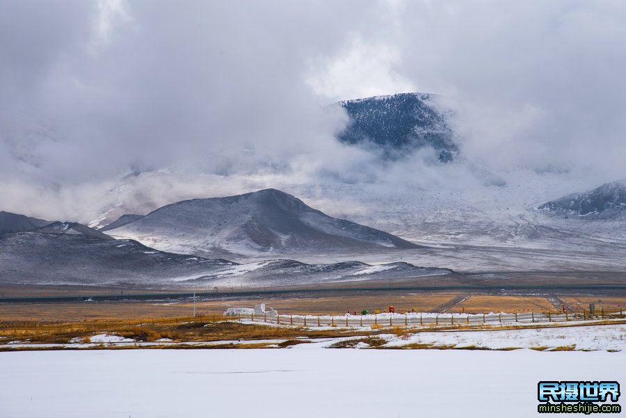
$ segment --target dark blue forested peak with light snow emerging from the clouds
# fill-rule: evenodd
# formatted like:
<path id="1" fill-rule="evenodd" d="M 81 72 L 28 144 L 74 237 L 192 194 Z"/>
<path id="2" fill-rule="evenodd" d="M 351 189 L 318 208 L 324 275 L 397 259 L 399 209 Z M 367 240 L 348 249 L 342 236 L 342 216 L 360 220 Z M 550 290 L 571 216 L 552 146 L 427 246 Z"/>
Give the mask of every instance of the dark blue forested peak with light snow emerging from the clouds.
<path id="1" fill-rule="evenodd" d="M 451 161 L 458 148 L 444 115 L 433 106 L 432 99 L 427 94 L 402 93 L 339 102 L 350 121 L 337 138 L 348 144 L 376 144 L 392 158 L 432 147 L 440 161 Z"/>

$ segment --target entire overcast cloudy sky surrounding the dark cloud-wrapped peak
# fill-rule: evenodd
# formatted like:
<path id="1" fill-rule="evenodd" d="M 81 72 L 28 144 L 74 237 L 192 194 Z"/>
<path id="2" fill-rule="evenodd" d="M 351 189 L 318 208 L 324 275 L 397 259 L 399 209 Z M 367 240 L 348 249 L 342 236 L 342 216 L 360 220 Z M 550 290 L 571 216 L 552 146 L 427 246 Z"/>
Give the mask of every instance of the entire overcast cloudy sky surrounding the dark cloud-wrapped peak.
<path id="1" fill-rule="evenodd" d="M 4 0 L 0 209 L 189 161 L 358 170 L 326 105 L 407 91 L 496 172 L 626 177 L 625 22 L 619 0 Z"/>

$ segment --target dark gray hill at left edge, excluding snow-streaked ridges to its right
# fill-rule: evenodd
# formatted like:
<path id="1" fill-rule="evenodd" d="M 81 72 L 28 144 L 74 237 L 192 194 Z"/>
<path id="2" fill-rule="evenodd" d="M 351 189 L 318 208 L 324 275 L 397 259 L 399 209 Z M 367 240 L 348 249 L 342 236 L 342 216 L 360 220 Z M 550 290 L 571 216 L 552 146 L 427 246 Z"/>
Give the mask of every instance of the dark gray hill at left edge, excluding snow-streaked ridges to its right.
<path id="1" fill-rule="evenodd" d="M 19 232 L 0 238 L 2 283 L 159 285 L 234 265 L 83 234 Z"/>

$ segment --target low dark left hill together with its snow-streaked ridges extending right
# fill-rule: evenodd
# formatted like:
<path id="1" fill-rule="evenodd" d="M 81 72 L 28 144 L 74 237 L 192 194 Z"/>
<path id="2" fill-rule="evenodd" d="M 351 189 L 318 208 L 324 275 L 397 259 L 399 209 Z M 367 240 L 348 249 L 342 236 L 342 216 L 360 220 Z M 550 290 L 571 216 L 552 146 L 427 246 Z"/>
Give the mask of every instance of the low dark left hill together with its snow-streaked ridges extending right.
<path id="1" fill-rule="evenodd" d="M 273 259 L 237 264 L 172 254 L 132 240 L 83 234 L 19 232 L 0 237 L 0 283 L 120 287 L 285 286 L 319 282 L 417 278 L 453 273 L 404 262 L 305 264 Z"/>

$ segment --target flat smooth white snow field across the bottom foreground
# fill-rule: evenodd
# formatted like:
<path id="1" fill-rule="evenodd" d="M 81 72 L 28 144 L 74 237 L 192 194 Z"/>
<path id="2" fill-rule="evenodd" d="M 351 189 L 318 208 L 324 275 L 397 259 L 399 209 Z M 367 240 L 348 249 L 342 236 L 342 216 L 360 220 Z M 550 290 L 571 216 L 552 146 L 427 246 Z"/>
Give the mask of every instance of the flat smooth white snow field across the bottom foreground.
<path id="1" fill-rule="evenodd" d="M 319 349 L 0 353 L 0 417 L 533 417 L 539 380 L 626 355 Z"/>

